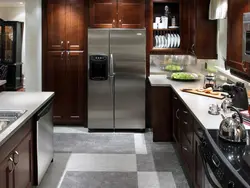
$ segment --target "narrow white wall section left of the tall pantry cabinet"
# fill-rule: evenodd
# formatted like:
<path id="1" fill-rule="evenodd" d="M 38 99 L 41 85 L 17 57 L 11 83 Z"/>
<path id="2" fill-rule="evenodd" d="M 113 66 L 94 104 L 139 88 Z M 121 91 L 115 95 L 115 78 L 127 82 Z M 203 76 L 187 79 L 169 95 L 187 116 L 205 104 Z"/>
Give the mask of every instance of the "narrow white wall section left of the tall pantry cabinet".
<path id="1" fill-rule="evenodd" d="M 41 0 L 25 3 L 25 88 L 26 91 L 42 90 L 42 8 Z"/>

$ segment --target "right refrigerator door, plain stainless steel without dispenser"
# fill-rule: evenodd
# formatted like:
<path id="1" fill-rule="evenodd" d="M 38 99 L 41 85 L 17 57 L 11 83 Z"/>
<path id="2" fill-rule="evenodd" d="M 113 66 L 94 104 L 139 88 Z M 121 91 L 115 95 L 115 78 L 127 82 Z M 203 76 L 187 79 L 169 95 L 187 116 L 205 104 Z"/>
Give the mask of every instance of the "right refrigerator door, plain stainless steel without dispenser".
<path id="1" fill-rule="evenodd" d="M 145 129 L 146 31 L 110 31 L 115 73 L 115 129 Z"/>

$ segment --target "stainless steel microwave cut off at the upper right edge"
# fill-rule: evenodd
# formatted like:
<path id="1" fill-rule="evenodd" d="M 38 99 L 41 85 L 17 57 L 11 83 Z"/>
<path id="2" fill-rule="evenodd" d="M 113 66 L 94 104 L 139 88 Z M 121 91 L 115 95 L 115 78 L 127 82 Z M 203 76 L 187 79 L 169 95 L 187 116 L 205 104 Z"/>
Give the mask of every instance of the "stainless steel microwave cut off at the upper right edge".
<path id="1" fill-rule="evenodd" d="M 242 61 L 250 63 L 250 13 L 243 14 Z"/>

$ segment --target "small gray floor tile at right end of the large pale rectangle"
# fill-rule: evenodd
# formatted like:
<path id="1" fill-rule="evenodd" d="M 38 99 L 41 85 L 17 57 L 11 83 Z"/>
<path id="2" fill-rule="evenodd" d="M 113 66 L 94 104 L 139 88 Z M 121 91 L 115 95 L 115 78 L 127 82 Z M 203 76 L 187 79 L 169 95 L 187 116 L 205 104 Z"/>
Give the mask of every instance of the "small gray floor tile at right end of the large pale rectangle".
<path id="1" fill-rule="evenodd" d="M 153 172 L 155 171 L 155 163 L 153 156 L 148 155 L 136 155 L 137 171 L 139 172 Z"/>

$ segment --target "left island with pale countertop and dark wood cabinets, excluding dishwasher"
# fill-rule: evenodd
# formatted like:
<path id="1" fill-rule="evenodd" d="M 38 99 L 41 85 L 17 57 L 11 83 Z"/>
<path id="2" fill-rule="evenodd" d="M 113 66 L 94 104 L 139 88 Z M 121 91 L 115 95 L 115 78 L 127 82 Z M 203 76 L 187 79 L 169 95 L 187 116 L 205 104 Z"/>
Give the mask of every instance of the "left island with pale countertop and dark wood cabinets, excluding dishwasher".
<path id="1" fill-rule="evenodd" d="M 36 114 L 53 92 L 2 92 L 0 110 L 25 110 L 0 132 L 0 187 L 32 187 L 37 177 Z"/>

